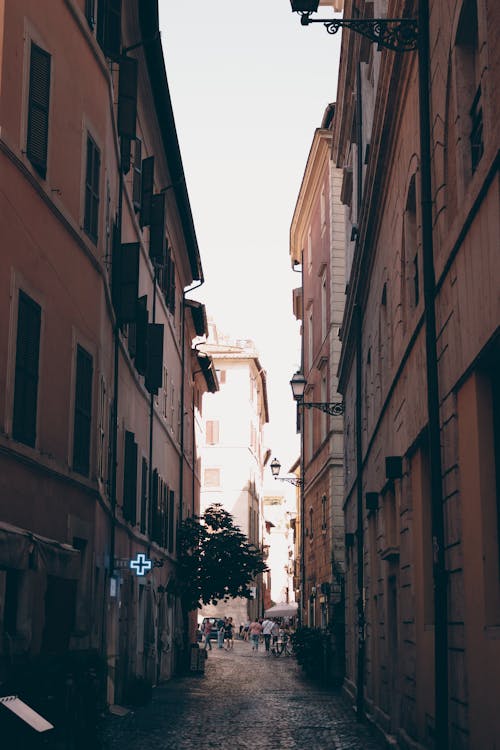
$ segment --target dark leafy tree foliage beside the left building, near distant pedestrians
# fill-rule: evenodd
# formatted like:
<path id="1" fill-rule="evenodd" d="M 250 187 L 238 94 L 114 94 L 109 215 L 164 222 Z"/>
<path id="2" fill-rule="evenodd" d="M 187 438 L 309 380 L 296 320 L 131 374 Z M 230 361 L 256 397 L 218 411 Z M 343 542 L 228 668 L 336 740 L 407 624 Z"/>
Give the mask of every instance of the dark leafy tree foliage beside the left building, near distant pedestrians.
<path id="1" fill-rule="evenodd" d="M 219 503 L 179 528 L 179 584 L 184 605 L 196 609 L 236 597 L 250 598 L 250 584 L 267 570 L 262 553 Z"/>

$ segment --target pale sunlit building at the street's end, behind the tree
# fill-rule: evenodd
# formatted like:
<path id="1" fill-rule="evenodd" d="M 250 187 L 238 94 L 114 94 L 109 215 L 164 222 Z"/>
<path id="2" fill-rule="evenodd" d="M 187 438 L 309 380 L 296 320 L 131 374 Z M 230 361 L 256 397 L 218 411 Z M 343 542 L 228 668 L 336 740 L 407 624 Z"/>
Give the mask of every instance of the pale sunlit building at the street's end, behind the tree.
<path id="1" fill-rule="evenodd" d="M 209 332 L 199 348 L 212 358 L 220 390 L 203 399 L 201 511 L 220 503 L 249 543 L 263 551 L 263 471 L 269 457 L 264 445 L 264 426 L 269 421 L 266 373 L 252 341 L 232 340 L 214 323 L 209 323 Z M 231 616 L 237 626 L 260 616 L 262 577 L 253 585 L 255 598 L 207 605 L 201 613 Z"/>

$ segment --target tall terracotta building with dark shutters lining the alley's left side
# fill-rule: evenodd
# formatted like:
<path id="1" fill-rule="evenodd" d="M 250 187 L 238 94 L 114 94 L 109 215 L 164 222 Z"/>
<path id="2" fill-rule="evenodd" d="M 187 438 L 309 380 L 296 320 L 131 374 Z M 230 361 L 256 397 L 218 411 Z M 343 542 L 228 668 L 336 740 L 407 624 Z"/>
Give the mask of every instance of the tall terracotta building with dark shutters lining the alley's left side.
<path id="1" fill-rule="evenodd" d="M 180 664 L 176 528 L 216 385 L 157 3 L 52 10 L 0 17 L 0 683 L 97 652 L 115 703 Z"/>

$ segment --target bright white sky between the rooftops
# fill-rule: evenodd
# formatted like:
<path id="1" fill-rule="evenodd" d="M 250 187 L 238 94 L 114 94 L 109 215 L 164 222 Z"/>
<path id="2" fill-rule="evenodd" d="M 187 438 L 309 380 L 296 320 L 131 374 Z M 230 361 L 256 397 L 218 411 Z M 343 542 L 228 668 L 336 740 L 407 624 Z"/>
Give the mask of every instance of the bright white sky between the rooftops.
<path id="1" fill-rule="evenodd" d="M 159 7 L 205 276 L 192 296 L 223 333 L 255 342 L 268 377 L 266 443 L 285 474 L 299 451 L 289 380 L 300 365 L 292 315 L 300 275 L 290 265 L 290 224 L 314 130 L 335 101 L 340 35 L 302 27 L 289 0 Z"/>

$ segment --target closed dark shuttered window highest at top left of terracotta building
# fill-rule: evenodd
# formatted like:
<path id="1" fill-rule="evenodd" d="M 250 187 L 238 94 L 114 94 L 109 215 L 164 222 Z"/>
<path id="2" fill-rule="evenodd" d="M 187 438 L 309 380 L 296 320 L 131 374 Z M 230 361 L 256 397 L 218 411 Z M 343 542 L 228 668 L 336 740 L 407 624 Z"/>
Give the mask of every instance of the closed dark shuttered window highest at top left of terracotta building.
<path id="1" fill-rule="evenodd" d="M 50 55 L 31 43 L 26 154 L 41 177 L 47 174 Z"/>

